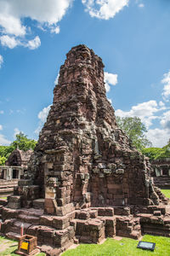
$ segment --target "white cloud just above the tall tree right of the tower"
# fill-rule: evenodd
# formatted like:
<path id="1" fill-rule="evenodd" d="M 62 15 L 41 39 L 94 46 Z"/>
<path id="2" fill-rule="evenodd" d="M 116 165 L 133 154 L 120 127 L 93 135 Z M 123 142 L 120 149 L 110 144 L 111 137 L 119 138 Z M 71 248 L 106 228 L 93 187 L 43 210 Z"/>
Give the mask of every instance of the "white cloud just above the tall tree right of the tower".
<path id="1" fill-rule="evenodd" d="M 156 101 L 149 101 L 139 103 L 136 106 L 133 106 L 130 111 L 122 111 L 121 109 L 116 110 L 116 115 L 121 117 L 139 117 L 144 125 L 147 128 L 152 125 L 152 120 L 159 119 L 158 116 L 155 115 L 156 112 L 161 111 L 165 108 L 159 108 Z"/>

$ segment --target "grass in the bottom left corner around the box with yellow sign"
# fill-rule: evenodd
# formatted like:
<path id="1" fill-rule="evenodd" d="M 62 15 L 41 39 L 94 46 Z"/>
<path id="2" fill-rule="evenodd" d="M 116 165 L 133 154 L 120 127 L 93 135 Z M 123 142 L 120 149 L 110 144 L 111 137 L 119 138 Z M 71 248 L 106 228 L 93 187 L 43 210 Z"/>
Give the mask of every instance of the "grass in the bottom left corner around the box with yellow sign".
<path id="1" fill-rule="evenodd" d="M 14 240 L 7 239 L 6 237 L 0 236 L 0 248 L 3 244 L 7 244 L 8 248 L 6 248 L 3 252 L 0 252 L 1 256 L 17 256 L 14 251 L 18 248 L 18 242 Z M 45 253 L 38 253 L 37 256 L 45 256 Z"/>

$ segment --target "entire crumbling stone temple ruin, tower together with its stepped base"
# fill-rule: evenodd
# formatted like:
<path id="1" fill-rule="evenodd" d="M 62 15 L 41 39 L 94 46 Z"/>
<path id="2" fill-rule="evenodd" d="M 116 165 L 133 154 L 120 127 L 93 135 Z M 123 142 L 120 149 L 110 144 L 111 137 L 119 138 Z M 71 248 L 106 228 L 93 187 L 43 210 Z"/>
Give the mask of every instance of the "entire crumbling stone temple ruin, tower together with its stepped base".
<path id="1" fill-rule="evenodd" d="M 24 222 L 39 245 L 55 247 L 50 255 L 107 236 L 170 236 L 168 200 L 149 161 L 116 125 L 103 68 L 85 45 L 66 55 L 27 179 L 0 210 L 6 236 Z"/>

